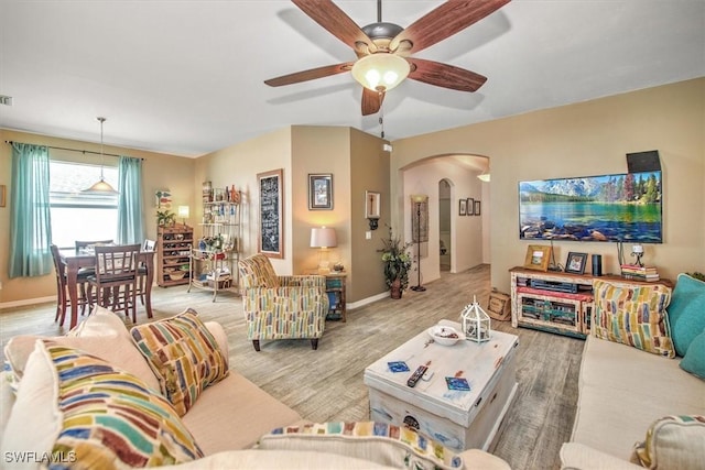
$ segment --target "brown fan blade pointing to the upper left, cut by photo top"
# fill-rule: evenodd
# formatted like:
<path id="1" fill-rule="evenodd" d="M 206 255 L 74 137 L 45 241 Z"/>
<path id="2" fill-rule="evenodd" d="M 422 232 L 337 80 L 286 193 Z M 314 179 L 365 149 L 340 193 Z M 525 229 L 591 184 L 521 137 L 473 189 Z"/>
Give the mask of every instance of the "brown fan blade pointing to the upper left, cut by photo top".
<path id="1" fill-rule="evenodd" d="M 349 45 L 356 52 L 360 51 L 358 43 L 367 44 L 368 52 L 377 52 L 377 46 L 367 34 L 330 0 L 292 0 L 304 13 L 321 24 L 330 34 Z"/>

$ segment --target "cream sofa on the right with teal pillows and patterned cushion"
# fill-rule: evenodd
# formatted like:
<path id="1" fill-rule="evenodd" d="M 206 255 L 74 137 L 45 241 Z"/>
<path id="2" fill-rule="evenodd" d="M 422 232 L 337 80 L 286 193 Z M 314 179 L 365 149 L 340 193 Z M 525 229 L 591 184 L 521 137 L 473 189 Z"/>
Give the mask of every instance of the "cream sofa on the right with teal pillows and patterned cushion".
<path id="1" fill-rule="evenodd" d="M 705 284 L 594 283 L 565 469 L 705 463 Z"/>

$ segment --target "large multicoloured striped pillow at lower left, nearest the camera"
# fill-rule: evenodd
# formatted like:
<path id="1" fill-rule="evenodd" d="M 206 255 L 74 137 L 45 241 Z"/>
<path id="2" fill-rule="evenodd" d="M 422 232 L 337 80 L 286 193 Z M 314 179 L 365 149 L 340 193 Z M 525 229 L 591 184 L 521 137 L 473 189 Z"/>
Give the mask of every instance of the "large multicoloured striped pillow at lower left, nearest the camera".
<path id="1" fill-rule="evenodd" d="M 158 467 L 203 452 L 174 408 L 140 379 L 78 349 L 45 341 L 62 429 L 53 468 Z"/>

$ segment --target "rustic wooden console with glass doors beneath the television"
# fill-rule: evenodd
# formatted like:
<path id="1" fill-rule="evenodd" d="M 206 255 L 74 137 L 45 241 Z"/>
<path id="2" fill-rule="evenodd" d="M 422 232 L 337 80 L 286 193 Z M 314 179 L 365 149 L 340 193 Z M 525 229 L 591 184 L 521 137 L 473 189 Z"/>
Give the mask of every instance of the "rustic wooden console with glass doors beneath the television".
<path id="1" fill-rule="evenodd" d="M 535 271 L 512 267 L 511 325 L 585 339 L 590 332 L 593 316 L 593 281 L 620 284 L 653 284 L 621 276 L 572 274 L 558 271 Z M 668 280 L 658 284 L 672 286 Z"/>

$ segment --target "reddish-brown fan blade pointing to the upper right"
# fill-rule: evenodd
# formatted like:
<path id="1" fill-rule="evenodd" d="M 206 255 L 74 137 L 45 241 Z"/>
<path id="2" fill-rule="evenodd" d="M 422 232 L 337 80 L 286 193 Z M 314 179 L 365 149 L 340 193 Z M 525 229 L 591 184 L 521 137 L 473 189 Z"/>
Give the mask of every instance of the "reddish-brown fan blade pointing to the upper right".
<path id="1" fill-rule="evenodd" d="M 509 1 L 447 1 L 399 33 L 390 43 L 390 50 L 395 51 L 401 42 L 408 41 L 412 43 L 411 50 L 415 54 L 480 21 L 509 3 Z"/>

